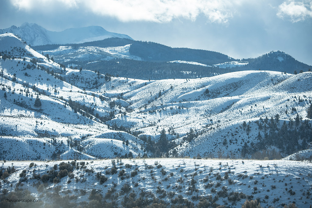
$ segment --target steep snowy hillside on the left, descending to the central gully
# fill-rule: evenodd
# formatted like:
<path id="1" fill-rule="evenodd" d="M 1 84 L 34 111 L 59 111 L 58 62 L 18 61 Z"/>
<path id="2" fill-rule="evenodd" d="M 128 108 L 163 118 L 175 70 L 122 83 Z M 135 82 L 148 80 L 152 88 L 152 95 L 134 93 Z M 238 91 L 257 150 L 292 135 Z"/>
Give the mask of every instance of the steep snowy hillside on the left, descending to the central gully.
<path id="1" fill-rule="evenodd" d="M 11 33 L 0 35 L 0 48 L 1 157 L 21 160 L 94 158 L 91 155 L 97 153 L 91 148 L 92 139 L 110 141 L 106 148 L 110 151 L 97 154 L 100 158 L 130 152 L 134 156 L 144 154 L 140 140 L 129 133 L 110 130 L 101 121 L 117 109 L 125 111 L 124 108 L 110 107 L 110 98 L 63 81 L 64 77 L 70 80 L 74 70 L 60 67 Z M 104 80 L 103 75 L 83 73 L 88 72 Z M 34 106 L 37 96 L 40 107 Z M 106 144 L 101 145 L 105 147 Z M 25 151 L 12 152 L 13 147 Z"/>

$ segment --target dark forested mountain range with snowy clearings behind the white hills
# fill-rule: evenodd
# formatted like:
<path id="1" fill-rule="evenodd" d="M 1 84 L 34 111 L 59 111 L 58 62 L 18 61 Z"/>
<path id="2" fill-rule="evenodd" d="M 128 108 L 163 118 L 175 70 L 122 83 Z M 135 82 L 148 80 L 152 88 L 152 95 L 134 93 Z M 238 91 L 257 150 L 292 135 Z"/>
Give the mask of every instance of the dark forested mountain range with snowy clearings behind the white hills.
<path id="1" fill-rule="evenodd" d="M 208 50 L 171 48 L 153 42 L 108 38 L 81 44 L 34 46 L 39 53 L 53 56 L 56 62 L 100 73 L 129 78 L 200 78 L 243 70 L 269 70 L 299 73 L 312 69 L 282 51 L 257 58 L 233 59 Z M 169 63 L 168 63 L 169 62 Z M 208 67 L 212 66 L 212 67 Z"/>

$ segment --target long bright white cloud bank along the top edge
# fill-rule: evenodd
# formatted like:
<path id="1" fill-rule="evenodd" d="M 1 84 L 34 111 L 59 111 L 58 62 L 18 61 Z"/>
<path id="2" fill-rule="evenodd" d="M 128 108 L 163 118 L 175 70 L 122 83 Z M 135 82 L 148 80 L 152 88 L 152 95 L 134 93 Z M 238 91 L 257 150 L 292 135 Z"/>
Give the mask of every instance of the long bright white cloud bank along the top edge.
<path id="1" fill-rule="evenodd" d="M 192 21 L 202 14 L 208 21 L 227 23 L 235 6 L 244 0 L 11 0 L 19 10 L 52 11 L 77 8 L 120 21 L 169 22 L 174 18 Z"/>

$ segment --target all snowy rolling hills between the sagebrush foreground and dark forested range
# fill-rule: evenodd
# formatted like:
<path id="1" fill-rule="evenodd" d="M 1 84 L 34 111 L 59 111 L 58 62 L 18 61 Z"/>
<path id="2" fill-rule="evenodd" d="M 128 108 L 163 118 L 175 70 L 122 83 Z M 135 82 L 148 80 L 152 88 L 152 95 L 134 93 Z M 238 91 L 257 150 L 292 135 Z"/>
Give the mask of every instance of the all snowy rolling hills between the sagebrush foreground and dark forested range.
<path id="1" fill-rule="evenodd" d="M 0 35 L 0 52 L 4 159 L 274 159 L 312 141 L 312 72 L 112 77 L 63 68 L 11 33 Z M 37 96 L 40 107 L 34 106 Z"/>

